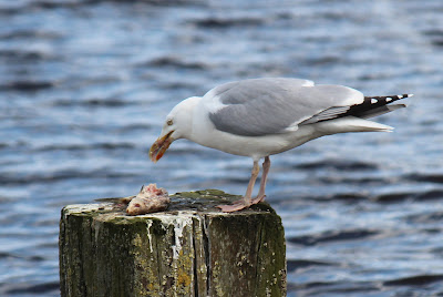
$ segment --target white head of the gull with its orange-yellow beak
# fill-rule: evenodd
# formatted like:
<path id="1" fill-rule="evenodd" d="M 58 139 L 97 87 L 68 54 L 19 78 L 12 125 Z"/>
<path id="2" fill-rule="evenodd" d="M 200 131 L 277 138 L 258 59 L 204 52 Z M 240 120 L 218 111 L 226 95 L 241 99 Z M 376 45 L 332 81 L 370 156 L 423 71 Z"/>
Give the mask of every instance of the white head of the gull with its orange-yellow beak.
<path id="1" fill-rule="evenodd" d="M 154 142 L 150 150 L 150 158 L 157 162 L 178 139 L 188 139 L 193 126 L 193 111 L 202 98 L 192 96 L 177 105 L 166 116 L 159 137 Z"/>

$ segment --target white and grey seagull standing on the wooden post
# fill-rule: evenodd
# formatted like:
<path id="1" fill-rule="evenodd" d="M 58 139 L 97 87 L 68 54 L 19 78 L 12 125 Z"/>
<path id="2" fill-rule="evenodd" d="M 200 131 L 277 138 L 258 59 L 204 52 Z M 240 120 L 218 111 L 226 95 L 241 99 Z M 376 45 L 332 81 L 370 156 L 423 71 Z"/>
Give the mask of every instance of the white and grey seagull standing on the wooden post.
<path id="1" fill-rule="evenodd" d="M 324 135 L 391 132 L 393 127 L 365 119 L 405 107 L 390 103 L 410 96 L 364 96 L 352 88 L 316 85 L 310 80 L 290 78 L 229 82 L 204 96 L 179 102 L 166 116 L 158 140 L 151 146 L 150 158 L 157 162 L 178 139 L 251 157 L 254 165 L 245 196 L 230 205 L 217 206 L 223 212 L 236 212 L 265 199 L 270 155 Z M 253 198 L 261 158 L 260 187 Z"/>

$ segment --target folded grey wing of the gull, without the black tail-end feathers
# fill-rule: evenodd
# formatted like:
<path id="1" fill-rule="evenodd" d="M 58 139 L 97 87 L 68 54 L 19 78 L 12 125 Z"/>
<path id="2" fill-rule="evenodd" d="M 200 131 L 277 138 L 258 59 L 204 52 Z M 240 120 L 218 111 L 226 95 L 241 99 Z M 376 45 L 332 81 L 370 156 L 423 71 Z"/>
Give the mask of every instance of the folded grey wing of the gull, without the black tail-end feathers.
<path id="1" fill-rule="evenodd" d="M 341 85 L 317 85 L 297 79 L 257 79 L 228 83 L 205 95 L 213 102 L 209 119 L 217 130 L 261 136 L 297 130 L 331 107 L 349 109 L 363 94 Z"/>

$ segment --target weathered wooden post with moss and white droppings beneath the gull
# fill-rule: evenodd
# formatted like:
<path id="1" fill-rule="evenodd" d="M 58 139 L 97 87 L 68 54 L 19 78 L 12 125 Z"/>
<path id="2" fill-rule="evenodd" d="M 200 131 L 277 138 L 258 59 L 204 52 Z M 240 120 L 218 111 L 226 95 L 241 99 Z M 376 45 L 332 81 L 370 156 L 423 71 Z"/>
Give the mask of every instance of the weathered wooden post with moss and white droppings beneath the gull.
<path id="1" fill-rule="evenodd" d="M 111 203 L 69 205 L 60 222 L 62 296 L 286 296 L 280 217 L 268 204 L 177 193 L 167 212 L 127 216 Z"/>

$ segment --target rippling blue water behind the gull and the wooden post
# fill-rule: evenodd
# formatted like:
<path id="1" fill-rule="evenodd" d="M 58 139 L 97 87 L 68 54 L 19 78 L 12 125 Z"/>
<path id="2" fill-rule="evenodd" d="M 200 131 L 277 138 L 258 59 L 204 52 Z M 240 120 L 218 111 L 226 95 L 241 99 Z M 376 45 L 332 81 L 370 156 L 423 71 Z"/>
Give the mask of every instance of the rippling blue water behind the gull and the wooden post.
<path id="1" fill-rule="evenodd" d="M 243 194 L 251 161 L 147 147 L 181 100 L 293 76 L 414 93 L 342 134 L 271 157 L 289 296 L 443 295 L 443 4 L 373 1 L 0 1 L 0 295 L 58 296 L 60 209 L 127 196 Z"/>

